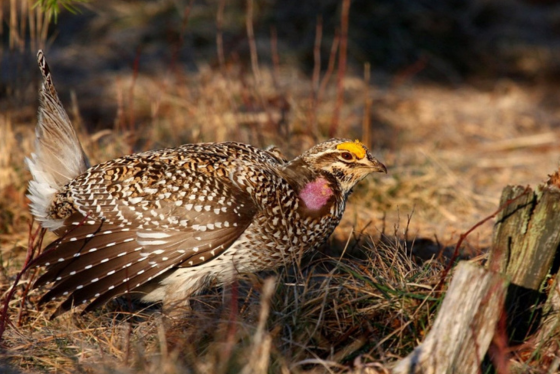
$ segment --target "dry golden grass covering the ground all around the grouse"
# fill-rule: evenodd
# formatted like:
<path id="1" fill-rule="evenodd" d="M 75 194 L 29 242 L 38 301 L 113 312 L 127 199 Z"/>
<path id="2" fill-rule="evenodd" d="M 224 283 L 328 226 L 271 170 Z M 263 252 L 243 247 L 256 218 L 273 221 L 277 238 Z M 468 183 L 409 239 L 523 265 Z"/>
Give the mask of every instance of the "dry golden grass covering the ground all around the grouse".
<path id="1" fill-rule="evenodd" d="M 0 1 L 5 19 L 13 11 L 8 3 Z M 135 2 L 110 3 L 92 4 L 100 9 L 92 21 L 96 28 L 127 12 L 146 22 L 148 15 L 155 17 L 157 6 L 169 7 L 166 2 L 144 9 Z M 188 30 L 195 26 L 186 25 L 187 10 L 183 23 Z M 46 22 L 38 10 L 22 6 L 18 11 L 17 22 L 37 25 L 41 19 L 40 27 Z M 204 9 L 194 7 L 190 17 L 197 12 Z M 227 19 L 227 11 L 222 17 Z M 33 149 L 38 73 L 31 58 L 9 56 L 18 48 L 29 56 L 25 50 L 45 45 L 47 34 L 33 31 L 37 26 L 27 31 L 31 45 L 21 37 L 12 41 L 15 29 L 26 34 L 17 22 L 10 23 L 12 52 L 6 45 L 0 52 L 0 70 L 15 69 L 19 76 L 2 87 L 7 95 L 0 99 L 3 301 L 38 240 L 30 235 L 36 226 L 30 228 L 25 198 L 29 173 L 23 166 Z M 253 58 L 260 57 L 255 51 L 270 48 L 257 42 L 248 48 L 255 47 Z M 327 51 L 330 42 L 323 41 Z M 49 320 L 49 308 L 36 308 L 41 290 L 28 293 L 36 272 L 27 272 L 6 301 L 2 372 L 384 372 L 422 341 L 443 297 L 435 285 L 445 256 L 420 258 L 449 255 L 462 232 L 497 209 L 505 185 L 535 185 L 558 165 L 559 117 L 556 106 L 546 105 L 552 92 L 546 85 L 508 79 L 483 89 L 466 83 L 436 85 L 416 81 L 407 71 L 380 79 L 376 74 L 382 73 L 373 71 L 377 83 L 372 83 L 350 71 L 337 86 L 336 64 L 329 77 L 328 57 L 323 56 L 318 75 L 289 63 L 286 51 L 270 53 L 271 63 L 260 57 L 260 65 L 226 54 L 214 65 L 198 62 L 196 72 L 173 60 L 168 65 L 155 62 L 158 68 L 144 71 L 131 58 L 128 70 L 115 72 L 95 68 L 106 56 L 104 45 L 74 45 L 52 54 L 46 50 L 59 93 L 93 163 L 131 151 L 223 140 L 276 144 L 293 156 L 329 136 L 342 88 L 336 134 L 363 138 L 369 131 L 369 142 L 390 172 L 361 184 L 322 251 L 291 268 L 243 276 L 230 287 L 211 289 L 193 300 L 192 311 L 182 320 L 162 316 L 157 305 L 126 299 L 94 313 Z M 68 64 L 91 65 L 93 71 L 79 80 L 67 78 Z M 86 87 L 93 94 L 85 99 L 71 95 L 78 81 L 81 90 Z M 114 110 L 103 112 L 109 108 Z M 482 261 L 491 230 L 490 222 L 471 234 L 462 255 Z M 534 372 L 546 372 L 544 364 L 532 361 L 535 355 L 512 357 L 533 365 Z"/>

